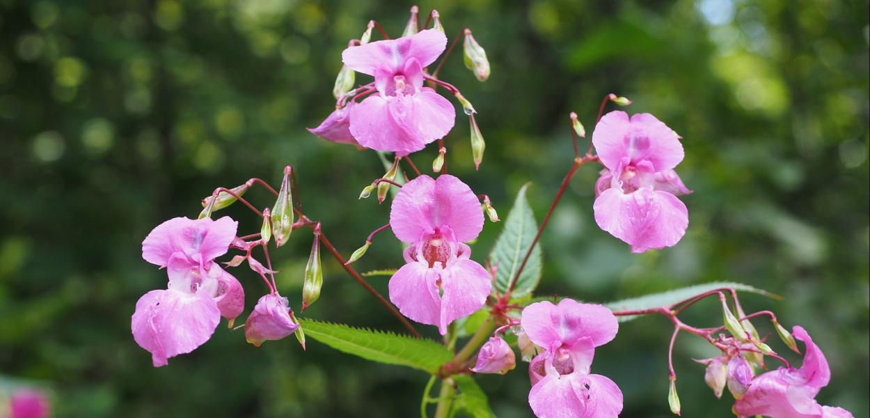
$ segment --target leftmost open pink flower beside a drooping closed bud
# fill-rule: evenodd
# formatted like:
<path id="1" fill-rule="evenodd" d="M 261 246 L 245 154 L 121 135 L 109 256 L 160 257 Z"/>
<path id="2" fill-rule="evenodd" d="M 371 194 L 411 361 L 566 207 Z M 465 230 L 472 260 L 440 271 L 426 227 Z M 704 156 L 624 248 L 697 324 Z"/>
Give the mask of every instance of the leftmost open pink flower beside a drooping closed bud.
<path id="1" fill-rule="evenodd" d="M 145 293 L 131 320 L 133 338 L 151 352 L 154 367 L 203 345 L 221 316 L 233 320 L 244 309 L 241 284 L 214 262 L 229 249 L 237 227 L 227 217 L 175 218 L 142 243 L 142 257 L 169 274 L 168 288 Z"/>

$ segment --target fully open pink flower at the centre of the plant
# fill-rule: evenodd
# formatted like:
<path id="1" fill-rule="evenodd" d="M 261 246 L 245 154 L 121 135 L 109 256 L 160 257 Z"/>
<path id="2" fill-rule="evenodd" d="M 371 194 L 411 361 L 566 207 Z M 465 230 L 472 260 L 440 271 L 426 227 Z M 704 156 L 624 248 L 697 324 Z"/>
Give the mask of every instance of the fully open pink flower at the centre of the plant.
<path id="1" fill-rule="evenodd" d="M 483 225 L 477 196 L 453 176 L 419 176 L 402 187 L 390 212 L 396 238 L 411 243 L 407 264 L 390 279 L 390 300 L 402 314 L 445 334 L 453 320 L 484 305 L 490 275 L 469 260 L 472 250 L 463 244 Z"/>

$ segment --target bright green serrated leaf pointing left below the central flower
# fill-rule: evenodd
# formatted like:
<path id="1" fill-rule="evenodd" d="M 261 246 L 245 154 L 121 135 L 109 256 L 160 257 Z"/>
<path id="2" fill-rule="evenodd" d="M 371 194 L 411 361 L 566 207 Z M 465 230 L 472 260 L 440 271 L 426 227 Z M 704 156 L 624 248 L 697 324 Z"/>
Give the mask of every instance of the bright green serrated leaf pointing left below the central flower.
<path id="1" fill-rule="evenodd" d="M 306 337 L 365 360 L 413 367 L 435 374 L 438 367 L 453 358 L 447 347 L 433 340 L 318 320 L 303 319 L 301 323 Z"/>

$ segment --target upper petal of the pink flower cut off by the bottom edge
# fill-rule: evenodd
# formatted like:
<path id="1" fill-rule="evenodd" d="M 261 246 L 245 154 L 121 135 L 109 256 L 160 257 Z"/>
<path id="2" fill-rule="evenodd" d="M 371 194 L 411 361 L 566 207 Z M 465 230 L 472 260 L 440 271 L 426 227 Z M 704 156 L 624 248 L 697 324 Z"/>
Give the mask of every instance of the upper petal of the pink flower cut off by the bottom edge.
<path id="1" fill-rule="evenodd" d="M 571 348 L 584 338 L 599 347 L 613 340 L 619 330 L 610 309 L 571 299 L 559 305 L 549 301 L 532 303 L 523 309 L 522 324 L 532 342 L 551 352 L 563 346 Z"/>

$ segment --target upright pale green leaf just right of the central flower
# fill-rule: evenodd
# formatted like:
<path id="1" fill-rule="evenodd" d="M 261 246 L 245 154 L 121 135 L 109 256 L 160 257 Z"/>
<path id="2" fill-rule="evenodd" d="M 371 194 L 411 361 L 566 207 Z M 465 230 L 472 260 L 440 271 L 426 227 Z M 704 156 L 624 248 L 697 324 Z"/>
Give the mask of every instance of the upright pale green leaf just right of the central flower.
<path id="1" fill-rule="evenodd" d="M 511 212 L 507 214 L 504 229 L 502 229 L 501 235 L 499 235 L 499 239 L 490 253 L 490 262 L 493 266 L 498 266 L 495 286 L 500 293 L 505 293 L 507 288 L 511 286 L 513 276 L 519 270 L 525 253 L 528 252 L 529 246 L 532 246 L 532 240 L 538 233 L 538 223 L 535 222 L 532 207 L 525 199 L 525 190 L 528 187 L 529 183 L 526 183 L 519 189 Z M 532 293 L 538 287 L 540 279 L 541 249 L 540 246 L 536 245 L 532 249 L 532 255 L 528 262 L 525 263 L 523 272 L 519 275 L 512 296 L 519 298 Z"/>

